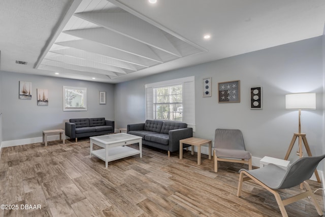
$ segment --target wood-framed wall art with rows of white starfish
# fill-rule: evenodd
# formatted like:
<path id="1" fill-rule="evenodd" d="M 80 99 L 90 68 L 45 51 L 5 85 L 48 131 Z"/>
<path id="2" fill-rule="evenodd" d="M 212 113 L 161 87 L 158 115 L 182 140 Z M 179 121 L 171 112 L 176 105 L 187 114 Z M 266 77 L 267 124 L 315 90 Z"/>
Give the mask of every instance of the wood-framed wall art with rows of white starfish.
<path id="1" fill-rule="evenodd" d="M 219 82 L 218 102 L 239 103 L 240 102 L 240 80 Z"/>

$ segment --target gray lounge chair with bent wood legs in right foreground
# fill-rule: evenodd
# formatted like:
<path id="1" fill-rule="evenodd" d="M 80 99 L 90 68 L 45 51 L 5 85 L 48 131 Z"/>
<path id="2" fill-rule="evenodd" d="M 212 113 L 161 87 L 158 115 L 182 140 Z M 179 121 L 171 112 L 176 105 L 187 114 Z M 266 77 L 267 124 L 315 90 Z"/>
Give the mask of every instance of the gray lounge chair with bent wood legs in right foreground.
<path id="1" fill-rule="evenodd" d="M 262 185 L 262 187 L 264 187 L 275 196 L 282 216 L 288 216 L 284 208 L 285 205 L 294 203 L 305 197 L 310 197 L 312 199 L 317 213 L 319 215 L 322 215 L 323 213 L 306 180 L 312 176 L 318 163 L 323 158 L 325 158 L 325 154 L 318 157 L 301 158 L 290 165 L 286 170 L 274 164 L 268 164 L 265 167 L 250 171 L 241 169 L 239 171 L 240 175 L 237 196 L 241 196 L 243 182 L 252 179 L 256 183 Z M 244 177 L 244 175 L 246 177 Z M 279 193 L 276 191 L 278 189 L 292 188 L 296 185 L 299 185 L 300 183 L 303 183 L 305 185 L 306 192 L 287 198 L 285 200 L 282 200 Z"/>

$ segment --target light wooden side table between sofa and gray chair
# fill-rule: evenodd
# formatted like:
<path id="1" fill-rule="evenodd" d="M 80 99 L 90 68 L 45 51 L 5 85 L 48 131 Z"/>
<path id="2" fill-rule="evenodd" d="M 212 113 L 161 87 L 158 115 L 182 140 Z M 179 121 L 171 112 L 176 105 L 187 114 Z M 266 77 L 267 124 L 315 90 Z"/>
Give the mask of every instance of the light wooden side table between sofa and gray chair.
<path id="1" fill-rule="evenodd" d="M 191 145 L 191 154 L 194 154 L 194 146 L 198 146 L 198 165 L 201 165 L 201 146 L 209 144 L 209 160 L 211 160 L 211 140 L 190 137 L 179 140 L 179 159 L 183 159 L 183 144 Z"/>

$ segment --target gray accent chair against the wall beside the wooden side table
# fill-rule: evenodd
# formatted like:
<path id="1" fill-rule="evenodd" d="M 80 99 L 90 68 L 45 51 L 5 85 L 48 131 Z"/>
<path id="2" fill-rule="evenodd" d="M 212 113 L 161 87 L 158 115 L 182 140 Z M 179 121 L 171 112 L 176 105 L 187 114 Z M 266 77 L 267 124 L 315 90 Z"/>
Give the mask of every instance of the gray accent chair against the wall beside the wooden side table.
<path id="1" fill-rule="evenodd" d="M 252 169 L 252 156 L 246 151 L 240 130 L 216 129 L 214 133 L 214 172 L 218 172 L 218 161 L 248 164 Z"/>

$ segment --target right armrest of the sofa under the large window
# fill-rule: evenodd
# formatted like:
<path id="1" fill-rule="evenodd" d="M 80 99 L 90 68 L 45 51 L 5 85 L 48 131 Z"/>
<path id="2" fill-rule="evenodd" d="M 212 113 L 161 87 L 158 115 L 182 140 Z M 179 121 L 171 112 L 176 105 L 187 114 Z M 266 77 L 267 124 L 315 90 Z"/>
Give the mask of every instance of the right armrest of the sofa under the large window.
<path id="1" fill-rule="evenodd" d="M 193 137 L 192 128 L 182 128 L 169 131 L 169 151 L 179 150 L 179 140 Z M 186 145 L 185 145 L 186 147 Z"/>

